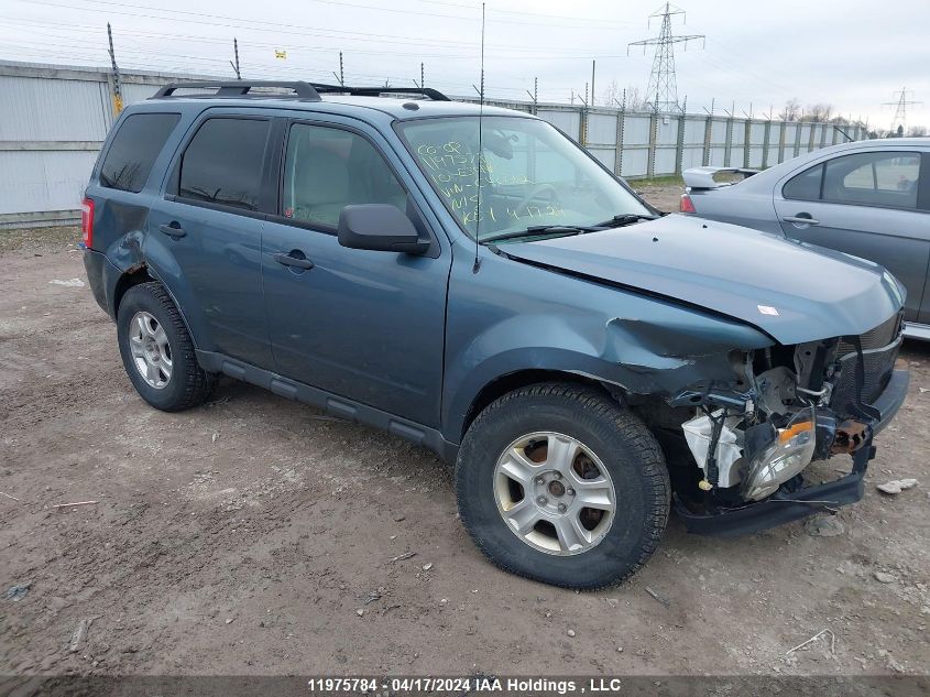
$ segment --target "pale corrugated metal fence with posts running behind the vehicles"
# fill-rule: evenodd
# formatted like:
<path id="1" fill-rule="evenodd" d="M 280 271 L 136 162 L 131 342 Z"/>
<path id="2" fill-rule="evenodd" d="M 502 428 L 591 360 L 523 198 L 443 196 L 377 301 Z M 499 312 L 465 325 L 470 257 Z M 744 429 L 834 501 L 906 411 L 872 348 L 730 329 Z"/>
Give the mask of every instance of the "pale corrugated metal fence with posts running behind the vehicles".
<path id="1" fill-rule="evenodd" d="M 162 85 L 192 77 L 206 76 L 122 74 L 123 101 L 141 101 Z M 81 193 L 116 119 L 111 94 L 112 78 L 106 68 L 0 61 L 0 228 L 79 219 Z M 535 113 L 628 178 L 675 175 L 699 165 L 767 167 L 865 138 L 862 126 L 525 101 L 488 104 Z"/>

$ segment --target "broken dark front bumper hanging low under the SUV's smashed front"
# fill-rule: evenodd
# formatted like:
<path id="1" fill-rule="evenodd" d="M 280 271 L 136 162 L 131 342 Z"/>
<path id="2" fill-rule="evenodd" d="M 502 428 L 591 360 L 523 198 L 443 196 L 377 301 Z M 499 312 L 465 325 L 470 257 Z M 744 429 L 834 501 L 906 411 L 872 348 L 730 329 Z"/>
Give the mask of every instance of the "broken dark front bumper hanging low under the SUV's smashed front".
<path id="1" fill-rule="evenodd" d="M 841 505 L 860 501 L 865 492 L 863 478 L 868 460 L 875 457 L 872 437 L 879 433 L 898 413 L 907 396 L 910 374 L 907 370 L 895 370 L 885 391 L 873 406 L 880 416 L 872 424 L 872 435 L 853 454 L 852 472 L 824 484 L 803 487 L 792 492 L 785 487 L 758 503 L 733 509 L 719 509 L 713 513 L 693 513 L 675 498 L 678 515 L 685 521 L 688 532 L 699 535 L 735 537 L 790 523 L 821 511 L 832 511 Z"/>

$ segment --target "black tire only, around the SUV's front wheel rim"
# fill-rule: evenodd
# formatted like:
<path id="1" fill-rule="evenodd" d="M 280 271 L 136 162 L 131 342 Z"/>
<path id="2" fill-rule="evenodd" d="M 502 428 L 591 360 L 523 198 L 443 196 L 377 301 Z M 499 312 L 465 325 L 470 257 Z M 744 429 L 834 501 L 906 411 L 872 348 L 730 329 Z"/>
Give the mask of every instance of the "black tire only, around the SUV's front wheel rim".
<path id="1" fill-rule="evenodd" d="M 515 439 L 541 431 L 583 443 L 613 480 L 613 523 L 586 552 L 541 552 L 497 511 L 497 458 Z M 580 590 L 619 584 L 649 558 L 668 521 L 670 491 L 661 449 L 643 422 L 599 390 L 577 384 L 532 385 L 500 397 L 471 424 L 456 464 L 459 514 L 478 547 L 504 570 Z"/>

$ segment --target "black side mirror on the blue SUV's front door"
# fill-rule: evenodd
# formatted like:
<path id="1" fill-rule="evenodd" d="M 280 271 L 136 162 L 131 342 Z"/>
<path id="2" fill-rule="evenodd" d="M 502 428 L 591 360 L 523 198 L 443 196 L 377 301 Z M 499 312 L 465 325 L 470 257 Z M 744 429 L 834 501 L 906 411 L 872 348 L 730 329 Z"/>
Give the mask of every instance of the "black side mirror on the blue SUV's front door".
<path id="1" fill-rule="evenodd" d="M 339 243 L 350 249 L 423 254 L 429 241 L 419 239 L 411 219 L 395 206 L 361 204 L 339 214 Z"/>

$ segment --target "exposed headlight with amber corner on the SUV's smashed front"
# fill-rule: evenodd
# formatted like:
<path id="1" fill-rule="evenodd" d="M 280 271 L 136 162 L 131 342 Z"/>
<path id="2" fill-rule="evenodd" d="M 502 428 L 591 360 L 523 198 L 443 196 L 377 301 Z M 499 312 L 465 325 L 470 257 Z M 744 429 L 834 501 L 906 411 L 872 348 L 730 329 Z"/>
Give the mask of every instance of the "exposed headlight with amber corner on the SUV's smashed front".
<path id="1" fill-rule="evenodd" d="M 777 428 L 773 442 L 750 461 L 744 497 L 758 501 L 810 465 L 817 445 L 814 407 L 795 414 Z"/>

